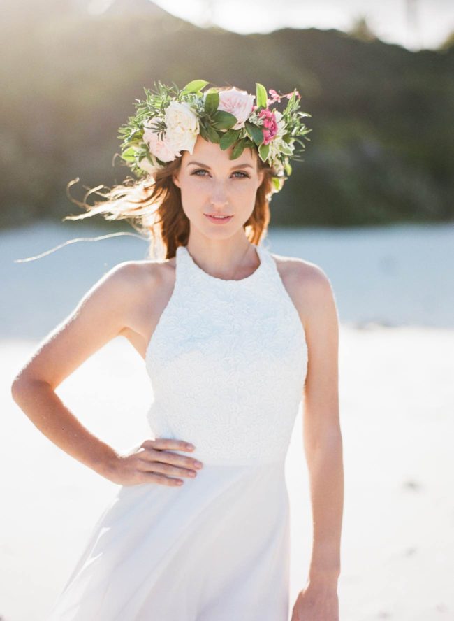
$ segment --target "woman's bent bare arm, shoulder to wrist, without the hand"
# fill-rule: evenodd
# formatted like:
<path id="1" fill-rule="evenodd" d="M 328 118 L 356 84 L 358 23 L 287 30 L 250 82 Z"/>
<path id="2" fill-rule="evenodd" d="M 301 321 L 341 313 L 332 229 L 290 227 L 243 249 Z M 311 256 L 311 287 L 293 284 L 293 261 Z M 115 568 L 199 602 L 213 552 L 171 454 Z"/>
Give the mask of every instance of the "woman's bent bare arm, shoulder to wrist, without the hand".
<path id="1" fill-rule="evenodd" d="M 115 450 L 86 429 L 55 388 L 124 329 L 133 287 L 131 264 L 119 264 L 85 294 L 75 310 L 41 343 L 17 373 L 11 394 L 31 422 L 54 444 L 106 476 Z M 137 288 L 137 287 L 136 287 Z"/>

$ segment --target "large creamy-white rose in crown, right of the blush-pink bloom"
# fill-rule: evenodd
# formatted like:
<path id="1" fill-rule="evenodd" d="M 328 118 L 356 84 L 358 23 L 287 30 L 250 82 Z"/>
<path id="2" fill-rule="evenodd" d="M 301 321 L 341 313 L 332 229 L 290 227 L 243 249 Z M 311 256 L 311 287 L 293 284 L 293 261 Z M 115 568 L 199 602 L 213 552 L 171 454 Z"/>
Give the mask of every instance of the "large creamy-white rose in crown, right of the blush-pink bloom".
<path id="1" fill-rule="evenodd" d="M 164 117 L 166 142 L 175 151 L 193 152 L 199 134 L 198 116 L 186 101 L 171 101 Z M 178 154 L 180 155 L 180 153 Z"/>

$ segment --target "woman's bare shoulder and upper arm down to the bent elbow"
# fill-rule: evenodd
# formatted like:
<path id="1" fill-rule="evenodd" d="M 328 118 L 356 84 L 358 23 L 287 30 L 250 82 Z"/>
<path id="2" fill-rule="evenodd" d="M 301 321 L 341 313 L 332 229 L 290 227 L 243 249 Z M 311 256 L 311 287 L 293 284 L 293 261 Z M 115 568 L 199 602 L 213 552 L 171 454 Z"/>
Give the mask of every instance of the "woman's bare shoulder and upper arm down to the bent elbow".
<path id="1" fill-rule="evenodd" d="M 89 356 L 112 338 L 127 336 L 142 354 L 149 338 L 150 317 L 165 287 L 161 273 L 170 266 L 123 262 L 96 280 L 71 313 L 41 341 L 22 366 L 15 386 L 29 379 L 57 387 Z M 154 294 L 154 291 L 159 291 Z"/>

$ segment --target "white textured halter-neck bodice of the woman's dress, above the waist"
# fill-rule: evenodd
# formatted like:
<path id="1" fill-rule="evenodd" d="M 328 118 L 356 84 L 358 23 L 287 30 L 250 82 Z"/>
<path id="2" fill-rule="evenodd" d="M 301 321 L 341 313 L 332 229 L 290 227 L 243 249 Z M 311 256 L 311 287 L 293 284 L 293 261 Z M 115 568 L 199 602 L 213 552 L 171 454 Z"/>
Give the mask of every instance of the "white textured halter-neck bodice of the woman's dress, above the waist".
<path id="1" fill-rule="evenodd" d="M 254 273 L 224 280 L 179 246 L 175 287 L 147 346 L 154 437 L 191 442 L 205 462 L 284 460 L 302 399 L 305 331 L 270 251 L 256 250 Z"/>

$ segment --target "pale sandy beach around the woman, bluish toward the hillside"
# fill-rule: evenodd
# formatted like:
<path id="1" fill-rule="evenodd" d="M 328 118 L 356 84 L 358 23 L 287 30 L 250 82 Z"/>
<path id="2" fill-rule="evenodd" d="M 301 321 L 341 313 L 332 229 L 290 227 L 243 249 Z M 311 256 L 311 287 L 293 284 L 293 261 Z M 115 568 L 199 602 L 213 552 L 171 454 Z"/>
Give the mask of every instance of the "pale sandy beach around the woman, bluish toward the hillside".
<path id="1" fill-rule="evenodd" d="M 81 230 L 0 234 L 1 621 L 45 619 L 117 488 L 54 446 L 10 397 L 17 370 L 83 292 L 110 266 L 145 258 L 146 243 L 125 236 L 13 264 Z M 340 618 L 454 620 L 454 227 L 271 231 L 269 238 L 272 252 L 322 266 L 339 308 Z M 90 357 L 57 394 L 119 450 L 149 437 L 149 378 L 124 338 Z M 312 538 L 301 411 L 286 476 L 293 605 Z"/>

